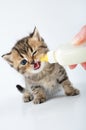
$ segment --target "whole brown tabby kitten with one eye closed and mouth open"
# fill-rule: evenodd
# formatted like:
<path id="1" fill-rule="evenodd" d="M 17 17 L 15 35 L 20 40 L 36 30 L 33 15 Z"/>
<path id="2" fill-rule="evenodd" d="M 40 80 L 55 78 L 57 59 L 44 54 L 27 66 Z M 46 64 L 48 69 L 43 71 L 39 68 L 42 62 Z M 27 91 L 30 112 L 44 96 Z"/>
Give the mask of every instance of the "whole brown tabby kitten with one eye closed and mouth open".
<path id="1" fill-rule="evenodd" d="M 25 88 L 16 86 L 23 93 L 24 102 L 33 100 L 35 104 L 43 103 L 49 96 L 57 93 L 59 85 L 68 96 L 79 94 L 79 90 L 72 86 L 61 65 L 40 62 L 40 57 L 48 51 L 47 45 L 35 28 L 29 36 L 19 40 L 10 53 L 2 56 L 11 67 L 24 76 Z"/>

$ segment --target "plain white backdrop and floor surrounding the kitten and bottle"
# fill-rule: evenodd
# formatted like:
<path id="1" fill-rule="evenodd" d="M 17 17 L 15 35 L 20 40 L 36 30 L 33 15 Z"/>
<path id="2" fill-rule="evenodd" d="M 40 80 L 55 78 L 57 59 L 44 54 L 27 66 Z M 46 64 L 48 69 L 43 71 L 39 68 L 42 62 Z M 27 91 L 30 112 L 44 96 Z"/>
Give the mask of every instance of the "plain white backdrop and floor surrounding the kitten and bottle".
<path id="1" fill-rule="evenodd" d="M 71 41 L 86 24 L 86 0 L 0 0 L 0 56 L 36 26 L 50 49 Z M 24 104 L 23 78 L 0 58 L 0 130 L 86 130 L 86 71 L 67 68 L 76 97 Z"/>

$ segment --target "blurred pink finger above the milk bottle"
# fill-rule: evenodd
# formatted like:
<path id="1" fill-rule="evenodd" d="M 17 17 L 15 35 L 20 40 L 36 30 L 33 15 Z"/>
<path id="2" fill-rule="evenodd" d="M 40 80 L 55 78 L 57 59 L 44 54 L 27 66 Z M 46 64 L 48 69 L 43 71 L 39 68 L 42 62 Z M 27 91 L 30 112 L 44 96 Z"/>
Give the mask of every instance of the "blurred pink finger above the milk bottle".
<path id="1" fill-rule="evenodd" d="M 78 34 L 72 40 L 72 43 L 75 45 L 80 45 L 86 42 L 86 25 L 83 26 Z"/>

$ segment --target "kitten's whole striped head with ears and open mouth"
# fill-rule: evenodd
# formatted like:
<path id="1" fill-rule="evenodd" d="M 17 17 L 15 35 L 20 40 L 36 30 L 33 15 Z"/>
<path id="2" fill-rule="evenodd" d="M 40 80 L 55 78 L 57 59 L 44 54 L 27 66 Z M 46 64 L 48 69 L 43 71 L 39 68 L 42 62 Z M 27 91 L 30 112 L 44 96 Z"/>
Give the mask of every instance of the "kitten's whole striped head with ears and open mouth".
<path id="1" fill-rule="evenodd" d="M 47 51 L 46 44 L 35 28 L 30 36 L 19 40 L 11 52 L 2 57 L 18 72 L 28 75 L 42 71 L 44 63 L 40 62 L 40 57 Z"/>

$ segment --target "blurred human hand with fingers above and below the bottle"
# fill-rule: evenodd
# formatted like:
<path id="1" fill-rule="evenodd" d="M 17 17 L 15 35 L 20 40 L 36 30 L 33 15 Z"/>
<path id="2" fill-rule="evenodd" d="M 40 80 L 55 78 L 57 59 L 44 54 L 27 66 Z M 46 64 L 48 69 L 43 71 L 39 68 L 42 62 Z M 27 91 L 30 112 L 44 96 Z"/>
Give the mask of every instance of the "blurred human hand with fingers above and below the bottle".
<path id="1" fill-rule="evenodd" d="M 78 34 L 75 35 L 74 39 L 72 40 L 72 44 L 74 45 L 81 45 L 86 42 L 86 25 L 83 26 Z M 86 62 L 81 63 L 82 67 L 86 70 Z M 70 69 L 74 69 L 77 64 L 70 65 Z"/>

